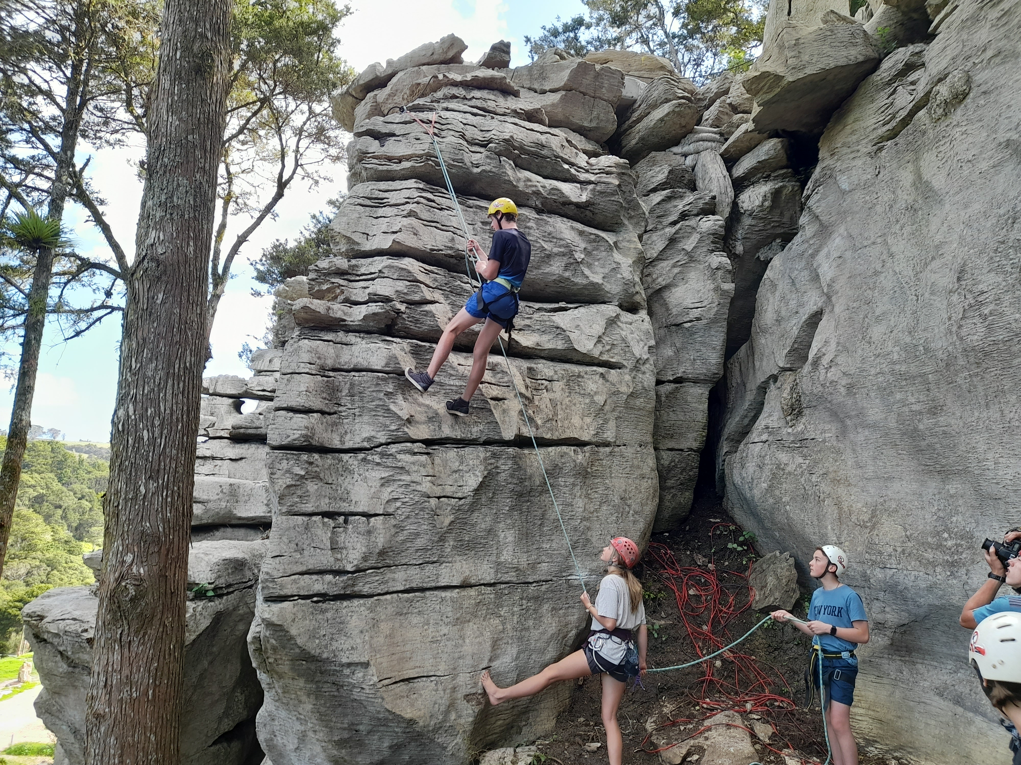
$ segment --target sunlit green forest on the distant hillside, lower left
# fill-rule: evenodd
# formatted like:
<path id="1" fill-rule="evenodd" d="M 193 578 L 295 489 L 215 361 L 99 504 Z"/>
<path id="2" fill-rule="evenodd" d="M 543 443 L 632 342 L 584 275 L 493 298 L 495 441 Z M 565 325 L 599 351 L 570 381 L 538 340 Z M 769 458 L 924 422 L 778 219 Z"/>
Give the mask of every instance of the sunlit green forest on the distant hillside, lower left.
<path id="1" fill-rule="evenodd" d="M 6 446 L 0 437 L 0 450 Z M 7 563 L 0 579 L 0 653 L 13 653 L 21 608 L 55 586 L 91 584 L 83 553 L 103 542 L 108 463 L 59 441 L 30 441 L 22 463 Z"/>

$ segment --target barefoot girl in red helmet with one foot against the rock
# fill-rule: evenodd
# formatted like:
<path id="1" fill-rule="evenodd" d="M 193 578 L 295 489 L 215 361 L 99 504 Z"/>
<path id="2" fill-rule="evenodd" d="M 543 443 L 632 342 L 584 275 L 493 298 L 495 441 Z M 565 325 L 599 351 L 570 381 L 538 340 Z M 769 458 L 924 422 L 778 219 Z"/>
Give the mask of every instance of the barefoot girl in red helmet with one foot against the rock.
<path id="1" fill-rule="evenodd" d="M 606 563 L 606 575 L 599 582 L 595 604 L 589 601 L 588 593 L 581 595 L 585 610 L 592 616 L 592 627 L 580 651 L 510 687 L 501 688 L 489 672 L 482 673 L 482 686 L 494 707 L 507 699 L 534 696 L 557 680 L 601 674 L 602 724 L 610 765 L 621 765 L 624 756 L 624 740 L 617 724 L 624 688 L 629 677 L 645 674 L 645 606 L 641 582 L 631 571 L 638 557 L 638 546 L 627 537 L 617 537 L 602 549 L 599 560 Z M 636 628 L 637 641 L 633 631 Z"/>

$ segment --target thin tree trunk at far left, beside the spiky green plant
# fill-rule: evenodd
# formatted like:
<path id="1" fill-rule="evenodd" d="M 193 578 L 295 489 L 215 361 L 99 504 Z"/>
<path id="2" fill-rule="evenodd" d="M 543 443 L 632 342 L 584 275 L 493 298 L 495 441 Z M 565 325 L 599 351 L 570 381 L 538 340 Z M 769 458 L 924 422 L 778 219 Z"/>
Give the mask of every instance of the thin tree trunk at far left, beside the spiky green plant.
<path id="1" fill-rule="evenodd" d="M 86 73 L 86 57 L 91 53 L 92 19 L 87 13 L 78 12 L 75 18 L 74 39 L 80 55 L 71 56 L 64 94 L 63 124 L 60 131 L 60 147 L 53 172 L 53 188 L 47 217 L 62 220 L 64 203 L 70 194 L 70 173 L 75 168 L 75 151 L 84 116 L 83 104 L 89 91 L 89 76 Z M 83 50 L 84 49 L 84 50 Z M 17 484 L 21 479 L 21 459 L 29 443 L 29 428 L 32 427 L 32 400 L 36 395 L 36 375 L 39 372 L 39 353 L 43 347 L 43 333 L 46 329 L 46 308 L 50 296 L 50 282 L 53 275 L 54 251 L 44 248 L 36 252 L 36 266 L 29 290 L 29 312 L 25 317 L 25 337 L 21 340 L 21 358 L 17 368 L 17 388 L 10 411 L 10 425 L 7 428 L 7 446 L 0 465 L 0 576 L 7 557 L 7 542 L 14 517 L 14 503 L 17 500 Z"/>

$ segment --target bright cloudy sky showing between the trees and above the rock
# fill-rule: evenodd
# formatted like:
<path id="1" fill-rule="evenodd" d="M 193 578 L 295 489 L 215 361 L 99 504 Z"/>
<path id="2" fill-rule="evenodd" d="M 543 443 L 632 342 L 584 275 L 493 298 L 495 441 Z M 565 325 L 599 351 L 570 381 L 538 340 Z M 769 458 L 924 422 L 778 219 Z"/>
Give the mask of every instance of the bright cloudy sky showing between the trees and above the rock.
<path id="1" fill-rule="evenodd" d="M 522 40 L 539 34 L 556 16 L 584 12 L 581 0 L 351 0 L 353 14 L 340 29 L 342 53 L 361 70 L 374 61 L 396 58 L 422 43 L 453 33 L 469 45 L 466 61 L 479 57 L 497 40 L 512 43 L 512 64 L 528 62 Z M 142 185 L 136 175 L 141 147 L 93 152 L 92 180 L 106 200 L 105 213 L 126 250 L 134 247 Z M 326 200 L 343 190 L 345 168 L 337 167 L 334 182 L 309 189 L 292 189 L 278 206 L 275 220 L 268 220 L 242 250 L 235 275 L 220 304 L 212 330 L 213 358 L 206 374 L 249 372 L 238 358 L 243 343 L 255 346 L 265 332 L 270 298 L 254 298 L 258 287 L 252 279 L 248 258 L 257 257 L 276 239 L 294 239 L 308 222 L 309 213 L 326 207 Z M 77 249 L 93 257 L 105 257 L 106 247 L 85 222 L 80 208 L 66 217 Z M 230 234 L 228 234 L 230 237 Z M 107 441 L 117 385 L 117 346 L 120 322 L 107 319 L 86 336 L 62 342 L 58 326 L 51 322 L 44 338 L 32 421 L 55 427 L 70 441 Z M 19 349 L 5 348 L 16 362 Z M 10 419 L 13 380 L 0 386 L 0 421 Z"/>

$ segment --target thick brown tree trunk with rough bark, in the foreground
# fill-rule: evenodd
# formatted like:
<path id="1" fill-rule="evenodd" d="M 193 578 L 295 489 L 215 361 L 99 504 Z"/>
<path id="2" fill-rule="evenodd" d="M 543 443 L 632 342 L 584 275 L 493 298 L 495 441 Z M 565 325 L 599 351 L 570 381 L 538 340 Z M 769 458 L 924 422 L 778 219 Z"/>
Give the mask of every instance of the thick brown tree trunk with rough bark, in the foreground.
<path id="1" fill-rule="evenodd" d="M 231 0 L 167 0 L 128 275 L 88 765 L 181 762 L 185 603 Z"/>

